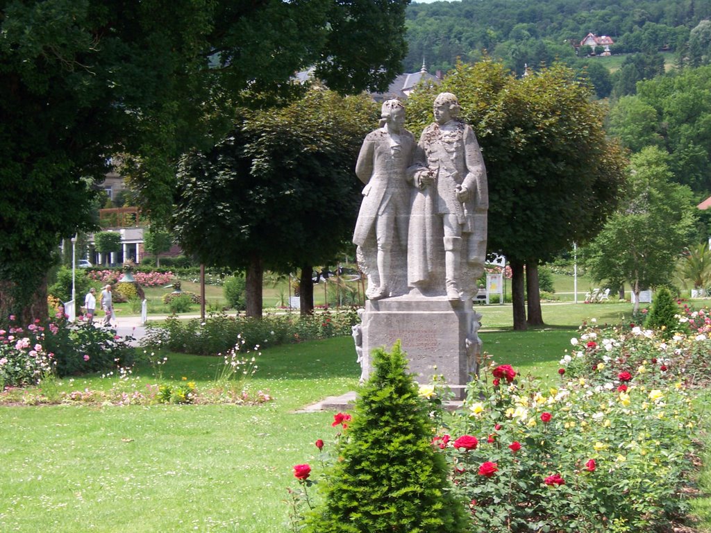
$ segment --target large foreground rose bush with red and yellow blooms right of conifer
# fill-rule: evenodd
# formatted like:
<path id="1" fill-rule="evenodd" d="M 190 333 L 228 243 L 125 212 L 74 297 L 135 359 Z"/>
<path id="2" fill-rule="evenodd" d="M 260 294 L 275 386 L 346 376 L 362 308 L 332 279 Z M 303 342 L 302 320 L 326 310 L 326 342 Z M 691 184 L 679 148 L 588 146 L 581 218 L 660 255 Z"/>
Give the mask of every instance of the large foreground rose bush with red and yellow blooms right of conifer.
<path id="1" fill-rule="evenodd" d="M 520 377 L 506 383 L 504 365 L 483 368 L 439 428 L 459 436 L 435 449 L 451 461 L 473 531 L 643 532 L 668 527 L 687 510 L 681 492 L 697 424 L 689 391 L 678 380 L 643 382 L 629 358 L 634 377 L 618 390 L 621 367 L 597 370 L 597 359 L 586 359 L 604 350 L 604 338 L 590 347 L 590 338 L 577 339 L 586 348 L 575 357 L 587 364 L 564 362 L 570 378 L 563 372 L 552 389 Z M 457 446 L 463 436 L 478 438 L 478 446 Z"/>

